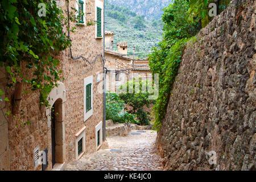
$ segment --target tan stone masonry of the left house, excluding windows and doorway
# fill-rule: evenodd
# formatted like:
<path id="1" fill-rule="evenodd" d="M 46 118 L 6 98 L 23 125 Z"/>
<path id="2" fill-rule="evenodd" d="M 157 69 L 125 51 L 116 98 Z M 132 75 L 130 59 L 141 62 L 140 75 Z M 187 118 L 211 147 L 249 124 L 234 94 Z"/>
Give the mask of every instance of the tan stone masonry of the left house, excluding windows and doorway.
<path id="1" fill-rule="evenodd" d="M 100 0 L 103 2 L 103 0 Z M 87 20 L 94 20 L 95 15 L 95 1 L 86 1 L 86 12 L 92 14 L 86 14 Z M 71 7 L 76 7 L 75 0 L 69 1 L 69 10 Z M 76 26 L 72 23 L 71 26 Z M 89 61 L 94 61 L 96 55 L 103 54 L 103 39 L 95 39 L 95 26 L 76 26 L 76 32 L 71 32 L 72 39 L 72 55 L 73 57 L 84 56 Z M 82 59 L 73 60 L 70 58 L 69 49 L 61 52 L 56 58 L 60 60 L 59 68 L 63 70 L 61 76 L 63 76 L 63 84 L 65 85 L 65 98 L 63 100 L 64 105 L 64 130 L 56 131 L 63 135 L 64 151 L 63 158 L 65 162 L 68 162 L 76 158 L 75 154 L 75 142 L 76 134 L 84 127 L 85 129 L 85 154 L 96 151 L 96 133 L 95 127 L 98 123 L 103 121 L 103 94 L 100 93 L 98 88 L 102 88 L 102 81 L 97 82 L 97 74 L 103 73 L 102 59 L 97 57 L 93 64 L 89 64 Z M 22 69 L 24 76 L 31 77 L 32 72 L 26 68 Z M 1 73 L 2 76 L 2 73 Z M 84 121 L 84 78 L 93 76 L 93 115 Z M 2 78 L 1 78 L 2 79 Z M 0 80 L 2 85 L 5 85 L 3 80 Z M 2 86 L 1 85 L 1 86 Z M 2 89 L 2 88 L 1 88 Z M 27 90 L 28 85 L 23 85 L 23 90 Z M 5 90 L 6 96 L 11 97 L 14 94 L 14 88 L 2 89 Z M 51 126 L 47 124 L 46 111 L 40 110 L 39 105 L 39 92 L 30 92 L 22 95 L 21 109 L 23 113 L 19 112 L 14 118 L 11 114 L 8 117 L 8 136 L 0 138 L 0 169 L 11 170 L 42 170 L 42 166 L 39 165 L 34 168 L 33 163 L 33 150 L 36 146 L 40 146 L 40 150 L 48 148 L 48 170 L 52 168 L 51 164 Z M 2 106 L 3 102 L 1 102 Z M 11 110 L 10 105 L 5 105 L 5 110 Z M 24 117 L 23 117 L 24 116 Z M 7 122 L 2 119 L 2 113 L 0 111 L 0 127 L 7 126 Z M 30 125 L 21 125 L 20 122 L 29 121 Z M 5 134 L 5 133 L 3 133 Z M 58 133 L 59 134 L 59 133 Z M 2 146 L 2 141 L 7 141 L 9 138 L 9 144 L 6 146 L 6 150 L 10 148 L 10 164 L 2 164 L 1 159 L 4 157 L 4 162 L 7 162 L 8 155 L 2 153 L 5 149 Z M 9 145 L 9 146 L 8 146 Z M 3 148 L 3 149 L 2 149 Z M 8 151 L 7 151 L 8 152 Z M 57 154 L 56 154 L 57 155 Z M 3 166 L 3 165 L 6 165 Z"/>

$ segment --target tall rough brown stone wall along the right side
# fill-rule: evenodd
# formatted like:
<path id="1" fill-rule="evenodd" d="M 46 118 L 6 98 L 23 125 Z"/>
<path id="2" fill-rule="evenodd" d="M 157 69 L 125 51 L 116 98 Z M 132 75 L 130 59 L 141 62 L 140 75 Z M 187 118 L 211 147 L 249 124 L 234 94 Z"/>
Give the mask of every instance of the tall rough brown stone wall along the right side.
<path id="1" fill-rule="evenodd" d="M 157 138 L 165 169 L 255 169 L 255 7 L 233 0 L 187 44 Z"/>

